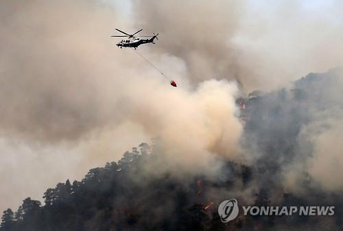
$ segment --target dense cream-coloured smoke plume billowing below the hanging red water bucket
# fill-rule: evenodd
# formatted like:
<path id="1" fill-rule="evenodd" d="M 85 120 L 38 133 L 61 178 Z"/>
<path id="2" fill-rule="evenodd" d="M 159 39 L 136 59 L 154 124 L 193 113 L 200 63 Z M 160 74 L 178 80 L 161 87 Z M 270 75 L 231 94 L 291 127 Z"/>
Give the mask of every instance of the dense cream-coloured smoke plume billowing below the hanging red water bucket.
<path id="1" fill-rule="evenodd" d="M 214 173 L 213 154 L 237 158 L 241 123 L 235 117 L 235 83 L 209 80 L 192 92 L 155 88 L 145 97 L 139 97 L 138 89 L 134 93 L 126 104 L 126 118 L 156 137 L 158 152 L 164 155 L 153 171 Z"/>

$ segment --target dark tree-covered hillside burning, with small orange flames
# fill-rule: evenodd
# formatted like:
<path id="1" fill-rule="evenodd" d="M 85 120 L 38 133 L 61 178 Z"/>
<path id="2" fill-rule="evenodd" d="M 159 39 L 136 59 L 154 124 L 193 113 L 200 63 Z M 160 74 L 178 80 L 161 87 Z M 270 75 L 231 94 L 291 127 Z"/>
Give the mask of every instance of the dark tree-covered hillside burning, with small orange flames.
<path id="1" fill-rule="evenodd" d="M 237 99 L 244 121 L 244 158 L 218 156 L 221 165 L 215 175 L 156 175 L 146 166 L 160 158 L 158 148 L 142 143 L 118 162 L 91 169 L 80 182 L 67 180 L 47 189 L 44 205 L 28 197 L 16 212 L 5 210 L 1 230 L 342 230 L 342 187 L 325 184 L 330 179 L 318 177 L 317 167 L 309 164 L 319 155 L 309 131 L 320 136 L 330 131 L 332 120 L 341 119 L 341 73 L 310 74 L 291 89 Z M 333 205 L 335 215 L 240 213 L 222 223 L 217 206 L 228 198 L 242 205 Z"/>

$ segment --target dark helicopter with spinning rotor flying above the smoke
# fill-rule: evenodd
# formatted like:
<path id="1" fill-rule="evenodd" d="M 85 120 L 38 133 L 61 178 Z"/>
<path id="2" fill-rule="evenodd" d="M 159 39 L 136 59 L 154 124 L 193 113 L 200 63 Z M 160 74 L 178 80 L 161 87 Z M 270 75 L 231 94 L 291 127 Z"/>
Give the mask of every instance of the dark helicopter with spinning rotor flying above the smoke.
<path id="1" fill-rule="evenodd" d="M 154 39 L 157 38 L 158 34 L 154 34 L 154 36 L 139 36 L 139 37 L 151 37 L 151 38 L 147 38 L 147 39 L 141 39 L 138 38 L 136 36 L 134 36 L 135 34 L 138 34 L 139 32 L 141 32 L 143 29 L 140 29 L 138 32 L 134 33 L 134 34 L 128 34 L 126 32 L 121 31 L 120 29 L 115 28 L 115 30 L 117 30 L 118 32 L 121 32 L 125 35 L 118 35 L 118 36 L 111 36 L 113 38 L 122 38 L 122 37 L 128 37 L 126 39 L 121 40 L 118 44 L 117 47 L 123 48 L 123 47 L 133 47 L 134 49 L 137 49 L 137 47 L 139 47 L 139 45 L 145 44 L 145 43 L 152 43 L 155 44 Z"/>

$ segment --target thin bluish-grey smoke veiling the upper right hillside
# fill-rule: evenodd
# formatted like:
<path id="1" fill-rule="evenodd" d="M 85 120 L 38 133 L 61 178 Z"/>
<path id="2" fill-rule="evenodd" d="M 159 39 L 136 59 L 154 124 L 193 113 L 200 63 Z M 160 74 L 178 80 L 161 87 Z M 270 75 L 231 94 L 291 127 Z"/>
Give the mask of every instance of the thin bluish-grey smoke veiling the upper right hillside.
<path id="1" fill-rule="evenodd" d="M 342 69 L 311 73 L 289 89 L 250 100 L 241 143 L 255 167 L 254 189 L 276 199 L 342 192 L 342 80 Z"/>

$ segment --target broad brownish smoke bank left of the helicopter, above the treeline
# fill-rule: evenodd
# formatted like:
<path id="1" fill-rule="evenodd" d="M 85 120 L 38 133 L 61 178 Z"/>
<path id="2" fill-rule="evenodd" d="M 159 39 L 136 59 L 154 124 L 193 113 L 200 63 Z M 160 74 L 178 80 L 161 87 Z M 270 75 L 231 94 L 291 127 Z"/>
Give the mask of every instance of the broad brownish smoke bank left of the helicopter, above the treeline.
<path id="1" fill-rule="evenodd" d="M 113 80 L 122 80 L 118 66 L 127 61 L 108 49 L 120 16 L 95 1 L 1 1 L 0 175 L 6 186 L 0 194 L 7 198 L 1 209 L 16 207 L 23 194 L 41 197 L 56 182 L 80 178 L 91 166 L 120 158 L 113 149 L 123 152 L 145 138 L 137 129 L 125 141 L 130 123 L 102 132 L 118 98 Z M 108 133 L 121 143 L 101 143 Z"/>

